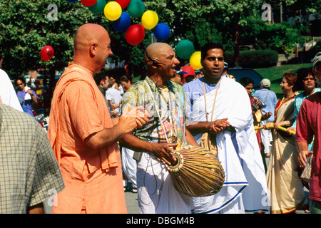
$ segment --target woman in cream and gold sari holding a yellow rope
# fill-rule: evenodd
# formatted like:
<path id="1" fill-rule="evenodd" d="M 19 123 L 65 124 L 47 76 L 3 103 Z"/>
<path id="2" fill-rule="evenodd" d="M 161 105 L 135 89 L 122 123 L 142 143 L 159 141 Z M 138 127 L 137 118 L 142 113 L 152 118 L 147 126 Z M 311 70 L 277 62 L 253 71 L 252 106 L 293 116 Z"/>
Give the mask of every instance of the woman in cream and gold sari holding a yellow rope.
<path id="1" fill-rule="evenodd" d="M 295 121 L 295 91 L 293 86 L 297 80 L 295 73 L 285 73 L 280 84 L 285 96 L 277 102 L 275 107 L 275 120 L 266 123 L 265 129 L 272 125 L 273 143 L 272 155 L 267 167 L 267 188 L 272 214 L 285 214 L 294 212 L 305 202 L 305 192 L 298 175 L 299 164 L 297 160 L 297 147 L 292 135 L 280 130 L 287 128 Z"/>

